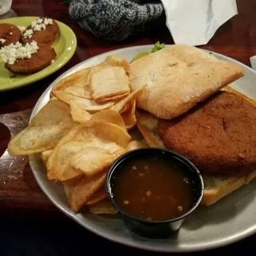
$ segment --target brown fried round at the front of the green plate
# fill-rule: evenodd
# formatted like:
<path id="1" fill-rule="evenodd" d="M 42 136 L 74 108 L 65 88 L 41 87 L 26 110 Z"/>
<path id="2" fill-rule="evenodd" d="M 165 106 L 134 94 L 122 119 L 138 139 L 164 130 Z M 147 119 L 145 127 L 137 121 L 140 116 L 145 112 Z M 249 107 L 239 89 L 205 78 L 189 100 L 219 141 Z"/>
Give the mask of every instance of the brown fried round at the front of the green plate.
<path id="1" fill-rule="evenodd" d="M 18 59 L 14 64 L 6 64 L 6 69 L 14 74 L 32 74 L 51 64 L 56 53 L 50 46 L 38 44 L 39 50 L 31 58 Z"/>

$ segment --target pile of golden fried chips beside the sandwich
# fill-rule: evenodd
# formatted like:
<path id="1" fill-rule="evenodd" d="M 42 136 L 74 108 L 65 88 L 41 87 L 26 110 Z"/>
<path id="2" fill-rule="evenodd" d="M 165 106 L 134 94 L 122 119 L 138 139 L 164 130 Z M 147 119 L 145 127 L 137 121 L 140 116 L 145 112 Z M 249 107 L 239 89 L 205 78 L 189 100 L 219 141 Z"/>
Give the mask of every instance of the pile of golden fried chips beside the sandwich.
<path id="1" fill-rule="evenodd" d="M 112 55 L 62 79 L 46 106 L 8 145 L 12 155 L 40 153 L 47 178 L 62 182 L 75 212 L 86 206 L 94 214 L 115 214 L 106 198 L 106 173 L 119 156 L 145 146 L 128 133 L 136 123 L 136 98 L 144 90 L 130 92 L 129 83 L 122 84 L 129 74 L 126 60 Z M 101 76 L 108 77 L 108 86 Z"/>

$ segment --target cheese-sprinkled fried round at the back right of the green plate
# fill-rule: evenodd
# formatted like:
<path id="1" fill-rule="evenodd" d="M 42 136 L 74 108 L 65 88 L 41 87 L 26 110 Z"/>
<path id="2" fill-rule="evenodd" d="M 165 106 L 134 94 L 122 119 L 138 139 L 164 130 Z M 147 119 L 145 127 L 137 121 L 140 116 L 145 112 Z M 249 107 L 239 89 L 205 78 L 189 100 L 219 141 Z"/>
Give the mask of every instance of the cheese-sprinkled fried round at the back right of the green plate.
<path id="1" fill-rule="evenodd" d="M 42 24 L 45 22 L 45 20 L 48 20 L 48 18 L 41 18 L 41 19 L 42 19 Z M 52 24 L 47 24 L 45 30 L 42 29 L 37 31 L 32 26 L 27 27 L 24 33 L 22 34 L 22 42 L 26 43 L 26 42 L 35 41 L 38 43 L 51 45 L 55 41 L 55 39 L 58 37 L 59 28 L 58 28 L 57 22 L 55 22 L 53 19 L 50 19 L 50 20 L 52 21 Z M 32 34 L 30 34 L 29 36 L 26 36 L 27 30 L 32 30 Z"/>

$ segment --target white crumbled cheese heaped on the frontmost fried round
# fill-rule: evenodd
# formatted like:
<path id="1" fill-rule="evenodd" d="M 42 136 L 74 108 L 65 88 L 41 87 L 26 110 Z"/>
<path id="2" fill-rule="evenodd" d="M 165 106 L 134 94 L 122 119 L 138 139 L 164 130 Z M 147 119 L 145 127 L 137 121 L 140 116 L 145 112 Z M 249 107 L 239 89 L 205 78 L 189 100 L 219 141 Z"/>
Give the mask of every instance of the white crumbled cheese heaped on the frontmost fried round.
<path id="1" fill-rule="evenodd" d="M 0 49 L 0 58 L 3 62 L 13 65 L 18 58 L 31 58 L 32 54 L 38 52 L 38 49 L 38 44 L 34 41 L 26 43 L 25 46 L 22 46 L 20 42 L 11 43 L 9 46 L 3 46 Z"/>

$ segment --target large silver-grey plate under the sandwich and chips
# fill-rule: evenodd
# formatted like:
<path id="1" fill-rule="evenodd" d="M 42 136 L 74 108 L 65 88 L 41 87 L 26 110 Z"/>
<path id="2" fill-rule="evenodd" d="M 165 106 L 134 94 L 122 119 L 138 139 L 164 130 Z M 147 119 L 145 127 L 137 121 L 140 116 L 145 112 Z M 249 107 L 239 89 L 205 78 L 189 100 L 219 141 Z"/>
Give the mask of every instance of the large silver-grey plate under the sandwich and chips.
<path id="1" fill-rule="evenodd" d="M 121 50 L 113 50 L 79 63 L 62 74 L 62 76 L 56 79 L 46 89 L 34 107 L 31 118 L 49 101 L 50 90 L 60 79 L 82 68 L 96 65 L 110 54 L 117 54 L 130 62 L 136 54 L 150 50 L 152 47 L 134 46 Z M 239 79 L 230 86 L 248 95 L 250 98 L 256 99 L 256 89 L 254 86 L 256 72 L 234 59 L 221 54 L 213 54 L 217 58 L 242 66 L 245 71 L 244 78 Z M 30 167 L 39 186 L 41 186 L 44 193 L 59 210 L 62 210 L 62 212 L 74 219 L 75 222 L 84 226 L 87 230 L 126 246 L 164 252 L 198 251 L 226 246 L 256 233 L 256 179 L 250 182 L 249 185 L 234 191 L 213 206 L 198 207 L 183 223 L 181 230 L 173 234 L 170 238 L 150 239 L 132 233 L 126 228 L 118 215 L 95 215 L 87 213 L 86 210 L 74 214 L 68 205 L 62 185 L 47 180 L 46 169 L 38 155 L 30 156 Z"/>

